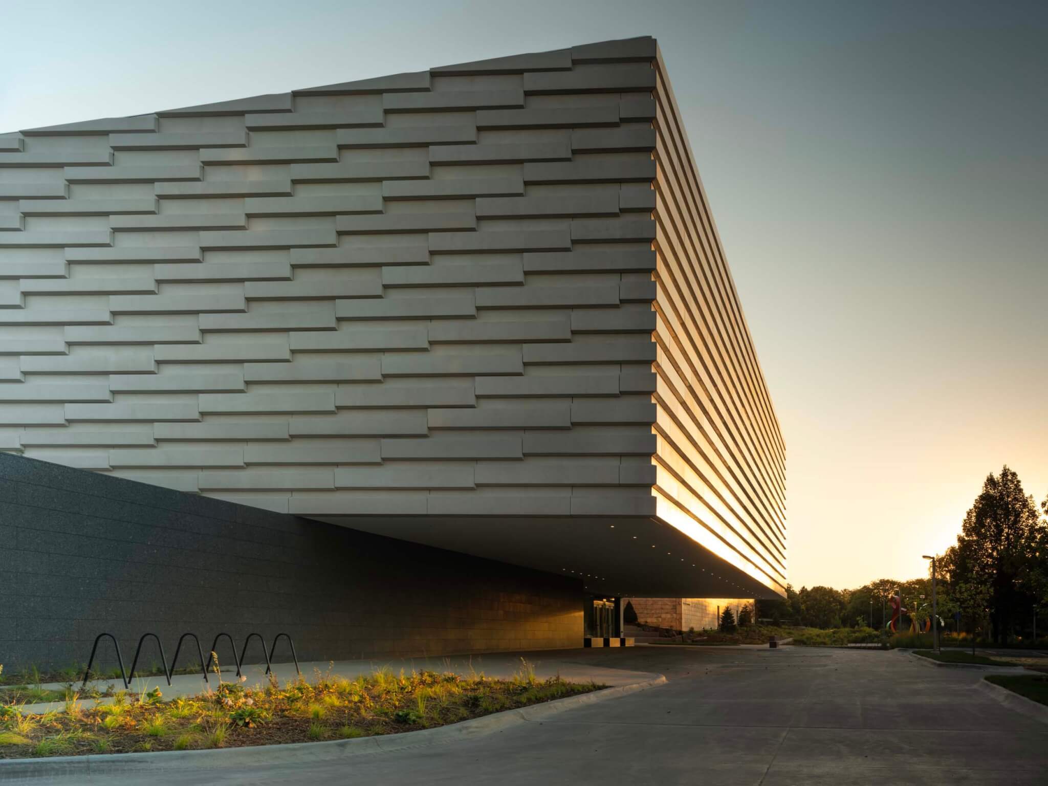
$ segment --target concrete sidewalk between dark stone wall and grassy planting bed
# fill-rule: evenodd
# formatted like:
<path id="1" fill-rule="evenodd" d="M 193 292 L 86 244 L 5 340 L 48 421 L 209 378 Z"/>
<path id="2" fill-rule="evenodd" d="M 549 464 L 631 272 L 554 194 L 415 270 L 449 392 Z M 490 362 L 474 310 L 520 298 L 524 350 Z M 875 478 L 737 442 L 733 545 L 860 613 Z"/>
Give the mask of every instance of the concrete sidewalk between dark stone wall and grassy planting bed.
<path id="1" fill-rule="evenodd" d="M 463 655 L 440 658 L 378 658 L 367 660 L 335 660 L 335 661 L 305 661 L 299 663 L 302 670 L 302 677 L 309 681 L 315 681 L 318 675 L 332 677 L 345 677 L 354 679 L 357 676 L 370 676 L 379 669 L 390 669 L 394 673 L 415 671 L 432 672 L 455 672 L 456 674 L 484 674 L 488 677 L 509 678 L 524 668 L 524 661 L 534 670 L 534 674 L 540 679 L 546 679 L 560 675 L 569 682 L 597 682 L 610 687 L 628 685 L 635 682 L 652 679 L 658 675 L 639 671 L 609 669 L 596 664 L 595 662 L 578 662 L 570 659 L 573 651 L 549 651 L 549 652 L 521 652 L 521 653 L 497 653 L 490 655 Z M 247 678 L 246 684 L 265 684 L 268 677 L 265 673 L 265 663 L 244 663 L 241 669 L 242 674 Z M 298 675 L 294 671 L 294 663 L 274 663 L 272 673 L 282 683 L 294 679 Z M 209 682 L 198 674 L 176 674 L 171 678 L 171 685 L 162 676 L 156 677 L 135 677 L 131 681 L 129 690 L 134 693 L 145 693 L 154 687 L 160 689 L 165 699 L 174 699 L 181 696 L 195 696 L 208 691 L 209 685 L 214 689 L 218 684 L 217 676 L 214 672 L 209 675 Z M 222 669 L 222 681 L 234 682 L 237 680 L 235 669 Z M 66 683 L 49 682 L 42 687 L 60 691 Z M 96 687 L 104 692 L 109 685 L 115 690 L 124 687 L 124 682 L 117 677 L 115 680 L 99 679 L 87 683 L 88 687 Z M 73 683 L 73 689 L 80 687 L 80 682 Z M 112 698 L 99 700 L 84 699 L 85 707 L 92 707 L 96 704 L 107 704 Z M 39 704 L 26 704 L 22 707 L 23 714 L 40 714 L 51 709 L 63 709 L 65 702 L 52 701 Z"/>

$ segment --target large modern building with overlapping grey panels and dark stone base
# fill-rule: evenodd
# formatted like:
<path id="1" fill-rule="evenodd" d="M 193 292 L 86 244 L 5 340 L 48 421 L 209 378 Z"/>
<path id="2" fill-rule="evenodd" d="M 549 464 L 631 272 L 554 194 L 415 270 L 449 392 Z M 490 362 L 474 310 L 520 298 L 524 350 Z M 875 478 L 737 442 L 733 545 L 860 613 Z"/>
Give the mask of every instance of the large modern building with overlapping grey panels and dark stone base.
<path id="1" fill-rule="evenodd" d="M 783 440 L 653 39 L 0 151 L 0 450 L 108 476 L 0 457 L 0 661 L 782 594 Z"/>

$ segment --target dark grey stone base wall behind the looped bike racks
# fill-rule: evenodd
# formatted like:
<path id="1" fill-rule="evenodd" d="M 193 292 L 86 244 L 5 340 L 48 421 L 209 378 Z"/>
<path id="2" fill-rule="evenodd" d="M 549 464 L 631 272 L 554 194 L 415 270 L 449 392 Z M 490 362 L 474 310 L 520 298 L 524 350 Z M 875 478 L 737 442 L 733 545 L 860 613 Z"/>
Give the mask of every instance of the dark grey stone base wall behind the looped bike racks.
<path id="1" fill-rule="evenodd" d="M 103 631 L 128 668 L 146 632 L 169 659 L 188 631 L 203 648 L 286 632 L 300 660 L 582 647 L 582 595 L 564 576 L 0 454 L 8 673 L 85 663 Z M 143 659 L 159 661 L 150 645 Z M 247 662 L 262 659 L 253 642 Z"/>

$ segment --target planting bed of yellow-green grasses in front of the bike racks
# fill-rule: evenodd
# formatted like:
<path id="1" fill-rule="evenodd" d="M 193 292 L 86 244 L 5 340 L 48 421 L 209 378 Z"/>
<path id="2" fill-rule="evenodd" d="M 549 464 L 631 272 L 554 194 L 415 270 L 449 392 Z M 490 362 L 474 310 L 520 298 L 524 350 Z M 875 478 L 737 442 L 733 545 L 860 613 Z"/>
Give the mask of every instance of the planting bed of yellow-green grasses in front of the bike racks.
<path id="1" fill-rule="evenodd" d="M 524 663 L 512 679 L 435 672 L 345 679 L 316 674 L 281 686 L 217 690 L 165 701 L 159 689 L 118 691 L 111 703 L 85 708 L 77 697 L 62 711 L 23 716 L 0 705 L 0 759 L 243 747 L 351 739 L 432 728 L 503 709 L 590 693 L 605 685 L 540 680 Z"/>

